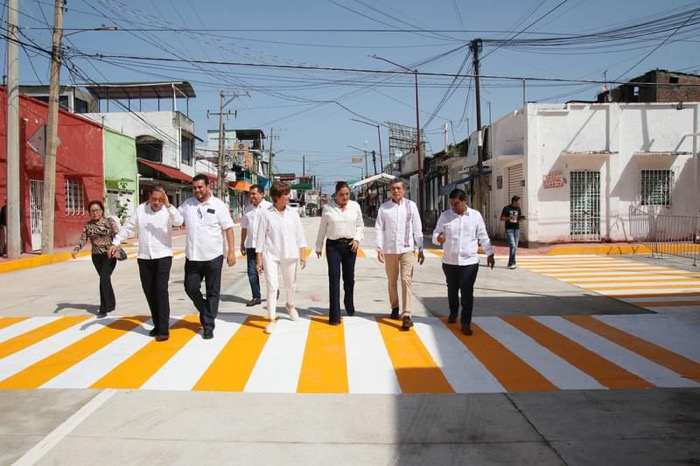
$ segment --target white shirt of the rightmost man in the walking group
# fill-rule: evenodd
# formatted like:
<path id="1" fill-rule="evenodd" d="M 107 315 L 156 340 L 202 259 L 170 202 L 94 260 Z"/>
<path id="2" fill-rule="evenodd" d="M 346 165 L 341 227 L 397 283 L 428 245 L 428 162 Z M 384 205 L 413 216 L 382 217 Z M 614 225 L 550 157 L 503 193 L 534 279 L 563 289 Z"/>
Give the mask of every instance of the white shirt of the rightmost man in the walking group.
<path id="1" fill-rule="evenodd" d="M 440 214 L 433 231 L 433 243 L 439 245 L 438 236 L 445 235 L 442 245 L 442 262 L 449 265 L 471 265 L 479 263 L 479 245 L 487 255 L 493 254 L 484 219 L 478 210 L 470 209 L 459 215 L 452 209 Z"/>

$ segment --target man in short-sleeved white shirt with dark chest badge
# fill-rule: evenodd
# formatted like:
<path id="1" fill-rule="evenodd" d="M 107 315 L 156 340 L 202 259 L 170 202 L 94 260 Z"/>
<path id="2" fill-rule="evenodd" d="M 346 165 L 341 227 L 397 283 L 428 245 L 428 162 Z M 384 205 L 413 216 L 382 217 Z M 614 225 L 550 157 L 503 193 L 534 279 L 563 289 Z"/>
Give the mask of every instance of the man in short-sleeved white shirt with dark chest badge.
<path id="1" fill-rule="evenodd" d="M 229 267 L 236 263 L 233 220 L 226 204 L 212 196 L 207 175 L 200 173 L 192 178 L 192 192 L 194 197 L 180 206 L 187 227 L 185 292 L 199 311 L 202 338 L 209 340 L 214 338 L 219 312 L 224 237 L 228 245 L 226 263 Z M 206 299 L 200 291 L 202 280 L 206 281 Z"/>

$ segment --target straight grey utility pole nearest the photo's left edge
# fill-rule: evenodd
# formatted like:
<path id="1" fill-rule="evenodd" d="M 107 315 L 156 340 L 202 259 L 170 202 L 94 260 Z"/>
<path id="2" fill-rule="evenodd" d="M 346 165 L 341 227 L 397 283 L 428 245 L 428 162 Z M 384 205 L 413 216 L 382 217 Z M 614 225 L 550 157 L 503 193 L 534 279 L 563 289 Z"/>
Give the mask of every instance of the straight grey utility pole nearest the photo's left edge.
<path id="1" fill-rule="evenodd" d="M 19 224 L 19 14 L 7 2 L 7 257 L 22 253 Z"/>

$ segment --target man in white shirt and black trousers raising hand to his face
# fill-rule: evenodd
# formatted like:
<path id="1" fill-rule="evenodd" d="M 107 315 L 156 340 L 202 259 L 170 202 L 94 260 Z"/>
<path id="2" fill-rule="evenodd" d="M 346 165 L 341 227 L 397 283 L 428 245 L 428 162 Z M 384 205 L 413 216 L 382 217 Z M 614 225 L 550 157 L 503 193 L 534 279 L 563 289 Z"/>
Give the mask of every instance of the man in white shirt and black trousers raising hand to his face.
<path id="1" fill-rule="evenodd" d="M 173 264 L 172 231 L 182 225 L 182 215 L 170 205 L 165 188 L 153 187 L 148 202 L 139 205 L 134 215 L 117 233 L 109 248 L 109 255 L 116 257 L 118 246 L 138 229 L 139 232 L 139 275 L 141 287 L 146 295 L 148 308 L 153 319 L 150 335 L 156 341 L 169 337 L 170 297 L 168 280 Z"/>

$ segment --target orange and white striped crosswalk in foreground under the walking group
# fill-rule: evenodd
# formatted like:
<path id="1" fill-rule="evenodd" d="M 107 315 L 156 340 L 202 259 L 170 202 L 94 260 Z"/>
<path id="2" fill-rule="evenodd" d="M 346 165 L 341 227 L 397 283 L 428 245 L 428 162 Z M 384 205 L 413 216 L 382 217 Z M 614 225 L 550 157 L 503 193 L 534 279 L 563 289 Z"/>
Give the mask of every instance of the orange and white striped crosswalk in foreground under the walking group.
<path id="1" fill-rule="evenodd" d="M 500 393 L 700 386 L 700 329 L 665 315 L 481 317 L 474 334 L 434 317 L 197 316 L 148 337 L 145 316 L 0 318 L 0 389 L 253 393 Z"/>

